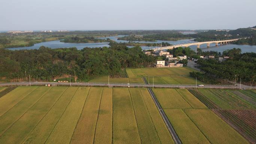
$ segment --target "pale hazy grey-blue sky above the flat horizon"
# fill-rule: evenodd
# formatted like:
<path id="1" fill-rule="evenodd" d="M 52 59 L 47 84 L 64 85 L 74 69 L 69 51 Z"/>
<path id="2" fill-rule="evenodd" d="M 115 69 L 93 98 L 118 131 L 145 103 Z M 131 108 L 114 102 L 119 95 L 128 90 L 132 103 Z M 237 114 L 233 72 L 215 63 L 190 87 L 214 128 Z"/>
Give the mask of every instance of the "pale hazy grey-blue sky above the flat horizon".
<path id="1" fill-rule="evenodd" d="M 256 25 L 256 0 L 0 0 L 4 30 L 206 30 Z"/>

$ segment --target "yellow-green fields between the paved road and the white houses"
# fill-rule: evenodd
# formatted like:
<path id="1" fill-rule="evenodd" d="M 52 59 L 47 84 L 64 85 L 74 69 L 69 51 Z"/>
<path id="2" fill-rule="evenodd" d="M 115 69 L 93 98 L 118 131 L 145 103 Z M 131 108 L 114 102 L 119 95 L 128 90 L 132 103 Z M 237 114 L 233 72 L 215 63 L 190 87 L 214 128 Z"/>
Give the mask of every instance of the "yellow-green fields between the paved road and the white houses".
<path id="1" fill-rule="evenodd" d="M 108 78 L 108 76 L 98 77 L 89 80 L 89 82 L 98 83 L 144 83 L 144 77 L 148 83 L 153 84 L 182 84 L 195 85 L 196 80 L 189 77 L 189 72 L 196 71 L 189 67 L 174 67 L 174 68 L 127 68 L 128 78 Z M 197 80 L 197 84 L 205 84 Z"/>

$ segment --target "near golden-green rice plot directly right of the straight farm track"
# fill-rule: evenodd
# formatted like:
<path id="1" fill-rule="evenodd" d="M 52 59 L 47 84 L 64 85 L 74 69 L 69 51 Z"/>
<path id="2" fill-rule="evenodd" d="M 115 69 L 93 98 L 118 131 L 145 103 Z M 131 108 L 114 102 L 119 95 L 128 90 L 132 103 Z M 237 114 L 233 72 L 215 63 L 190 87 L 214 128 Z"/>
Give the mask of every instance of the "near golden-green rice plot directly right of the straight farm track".
<path id="1" fill-rule="evenodd" d="M 210 144 L 181 109 L 164 110 L 183 144 Z"/>

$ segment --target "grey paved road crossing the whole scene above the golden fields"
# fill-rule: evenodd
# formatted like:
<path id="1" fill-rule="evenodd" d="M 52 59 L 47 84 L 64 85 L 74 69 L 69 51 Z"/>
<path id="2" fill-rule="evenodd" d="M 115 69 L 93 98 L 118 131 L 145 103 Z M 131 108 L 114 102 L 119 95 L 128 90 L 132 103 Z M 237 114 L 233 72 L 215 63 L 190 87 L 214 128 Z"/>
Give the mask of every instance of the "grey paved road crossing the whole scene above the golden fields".
<path id="1" fill-rule="evenodd" d="M 31 82 L 31 85 L 46 85 L 51 84 L 53 86 L 70 86 L 70 83 L 57 83 L 57 82 Z M 28 86 L 29 82 L 14 82 L 14 83 L 0 83 L 1 86 Z M 196 85 L 167 85 L 167 84 L 139 84 L 139 83 L 71 83 L 71 86 L 111 86 L 111 87 L 143 87 L 143 88 L 215 88 L 215 89 L 239 89 L 240 86 L 229 85 L 204 85 L 204 87 L 198 87 Z M 241 89 L 256 89 L 256 87 L 250 87 L 241 85 Z"/>

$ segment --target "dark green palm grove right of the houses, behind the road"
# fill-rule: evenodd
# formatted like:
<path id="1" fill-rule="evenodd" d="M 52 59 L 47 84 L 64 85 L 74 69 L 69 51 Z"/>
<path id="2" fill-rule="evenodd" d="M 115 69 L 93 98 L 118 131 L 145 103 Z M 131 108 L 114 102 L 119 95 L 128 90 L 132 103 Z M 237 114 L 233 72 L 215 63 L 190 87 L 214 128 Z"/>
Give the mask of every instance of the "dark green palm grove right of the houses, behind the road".
<path id="1" fill-rule="evenodd" d="M 226 79 L 232 82 L 241 81 L 246 85 L 256 85 L 256 53 L 243 53 L 241 49 L 226 50 L 222 56 L 229 56 L 225 61 L 217 59 L 198 59 L 197 64 L 204 74 L 191 73 L 202 81 Z"/>

